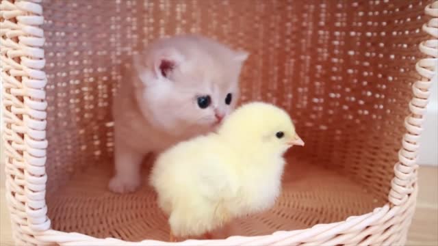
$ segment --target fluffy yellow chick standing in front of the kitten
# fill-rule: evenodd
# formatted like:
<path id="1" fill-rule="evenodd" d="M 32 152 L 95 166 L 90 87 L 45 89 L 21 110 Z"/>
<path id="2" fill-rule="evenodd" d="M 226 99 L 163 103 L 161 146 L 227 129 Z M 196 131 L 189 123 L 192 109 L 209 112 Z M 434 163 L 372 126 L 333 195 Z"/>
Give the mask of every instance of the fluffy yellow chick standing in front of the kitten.
<path id="1" fill-rule="evenodd" d="M 159 154 L 150 184 L 169 217 L 170 241 L 209 238 L 236 217 L 271 208 L 281 191 L 283 154 L 294 145 L 304 142 L 283 109 L 250 102 L 216 133 Z"/>

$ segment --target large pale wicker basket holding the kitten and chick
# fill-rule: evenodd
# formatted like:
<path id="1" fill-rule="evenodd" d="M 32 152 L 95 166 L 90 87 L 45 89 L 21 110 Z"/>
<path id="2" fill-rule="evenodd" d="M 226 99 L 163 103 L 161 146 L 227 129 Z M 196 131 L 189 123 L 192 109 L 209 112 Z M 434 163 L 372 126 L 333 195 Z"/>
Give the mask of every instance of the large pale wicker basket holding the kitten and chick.
<path id="1" fill-rule="evenodd" d="M 168 244 L 151 187 L 107 191 L 110 107 L 123 59 L 185 32 L 249 51 L 242 102 L 287 109 L 306 146 L 287 154 L 272 210 L 179 245 L 404 244 L 438 1 L 3 0 L 0 18 L 17 245 Z"/>

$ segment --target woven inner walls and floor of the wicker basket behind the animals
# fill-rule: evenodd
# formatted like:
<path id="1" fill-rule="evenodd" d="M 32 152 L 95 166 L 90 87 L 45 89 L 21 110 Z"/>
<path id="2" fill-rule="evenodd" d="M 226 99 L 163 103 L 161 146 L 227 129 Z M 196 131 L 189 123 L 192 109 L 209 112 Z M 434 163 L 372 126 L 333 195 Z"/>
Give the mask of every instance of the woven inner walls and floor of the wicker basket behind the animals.
<path id="1" fill-rule="evenodd" d="M 275 208 L 236 221 L 229 234 L 307 228 L 381 206 L 417 79 L 424 5 L 43 1 L 53 229 L 129 241 L 168 238 L 150 187 L 131 195 L 107 191 L 114 150 L 110 108 L 116 83 L 123 83 L 123 59 L 155 38 L 188 32 L 249 51 L 241 102 L 284 107 L 306 142 L 287 154 Z"/>

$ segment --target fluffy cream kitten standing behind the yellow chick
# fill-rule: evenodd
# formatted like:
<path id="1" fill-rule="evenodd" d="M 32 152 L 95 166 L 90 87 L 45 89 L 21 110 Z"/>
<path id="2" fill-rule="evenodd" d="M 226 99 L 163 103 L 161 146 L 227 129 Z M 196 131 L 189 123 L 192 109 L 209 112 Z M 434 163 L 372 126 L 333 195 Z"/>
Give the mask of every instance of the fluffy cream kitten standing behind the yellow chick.
<path id="1" fill-rule="evenodd" d="M 220 121 L 217 115 L 230 113 L 239 98 L 240 71 L 247 57 L 244 51 L 196 35 L 157 40 L 134 55 L 114 98 L 116 174 L 110 190 L 135 191 L 146 154 L 207 133 Z M 198 97 L 207 95 L 211 105 L 201 109 Z"/>

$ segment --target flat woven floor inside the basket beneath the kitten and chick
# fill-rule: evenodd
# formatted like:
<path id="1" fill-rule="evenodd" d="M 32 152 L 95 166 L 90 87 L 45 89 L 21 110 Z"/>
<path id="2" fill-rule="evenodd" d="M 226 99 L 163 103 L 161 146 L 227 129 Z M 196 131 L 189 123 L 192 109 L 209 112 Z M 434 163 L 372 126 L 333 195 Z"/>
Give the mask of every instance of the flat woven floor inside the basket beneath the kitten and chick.
<path id="1" fill-rule="evenodd" d="M 234 221 L 216 238 L 309 228 L 368 213 L 384 203 L 345 176 L 306 161 L 288 158 L 288 163 L 276 206 Z M 52 228 L 125 241 L 167 241 L 167 218 L 157 207 L 153 189 L 144 182 L 136 193 L 117 195 L 107 190 L 111 176 L 110 165 L 90 167 L 48 195 Z"/>

